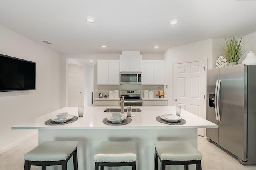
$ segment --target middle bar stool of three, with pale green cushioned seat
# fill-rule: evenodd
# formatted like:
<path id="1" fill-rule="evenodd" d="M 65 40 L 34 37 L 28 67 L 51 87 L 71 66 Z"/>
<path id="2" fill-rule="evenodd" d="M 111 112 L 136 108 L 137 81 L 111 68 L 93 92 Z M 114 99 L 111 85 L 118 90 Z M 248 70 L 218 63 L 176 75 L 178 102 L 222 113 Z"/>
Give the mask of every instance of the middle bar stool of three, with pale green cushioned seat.
<path id="1" fill-rule="evenodd" d="M 94 155 L 95 170 L 104 166 L 132 166 L 136 170 L 137 151 L 135 142 L 101 142 Z"/>

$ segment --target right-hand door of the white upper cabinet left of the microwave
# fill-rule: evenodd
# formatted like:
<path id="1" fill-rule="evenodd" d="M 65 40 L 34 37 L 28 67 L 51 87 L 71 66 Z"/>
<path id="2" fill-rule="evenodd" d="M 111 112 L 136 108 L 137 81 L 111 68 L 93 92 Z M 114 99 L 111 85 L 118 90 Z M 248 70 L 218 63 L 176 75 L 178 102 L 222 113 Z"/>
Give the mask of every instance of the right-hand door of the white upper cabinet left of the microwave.
<path id="1" fill-rule="evenodd" d="M 119 60 L 109 60 L 108 61 L 108 84 L 119 85 Z"/>

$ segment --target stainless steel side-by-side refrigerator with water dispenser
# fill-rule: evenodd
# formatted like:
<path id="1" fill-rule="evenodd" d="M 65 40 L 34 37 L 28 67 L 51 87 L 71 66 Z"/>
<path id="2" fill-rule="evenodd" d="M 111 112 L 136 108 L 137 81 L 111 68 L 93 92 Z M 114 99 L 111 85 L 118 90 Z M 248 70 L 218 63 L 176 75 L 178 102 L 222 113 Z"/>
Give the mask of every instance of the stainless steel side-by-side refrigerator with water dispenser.
<path id="1" fill-rule="evenodd" d="M 219 125 L 206 130 L 208 141 L 241 164 L 256 164 L 256 66 L 207 70 L 206 119 Z"/>

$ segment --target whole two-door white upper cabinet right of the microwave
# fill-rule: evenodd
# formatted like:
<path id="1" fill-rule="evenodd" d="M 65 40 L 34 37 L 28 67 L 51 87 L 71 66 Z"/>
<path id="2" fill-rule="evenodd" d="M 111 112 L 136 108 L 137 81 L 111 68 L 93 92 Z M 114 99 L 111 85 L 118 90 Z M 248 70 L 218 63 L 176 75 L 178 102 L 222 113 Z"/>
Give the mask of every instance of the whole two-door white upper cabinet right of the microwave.
<path id="1" fill-rule="evenodd" d="M 164 61 L 142 61 L 142 85 L 164 85 Z"/>

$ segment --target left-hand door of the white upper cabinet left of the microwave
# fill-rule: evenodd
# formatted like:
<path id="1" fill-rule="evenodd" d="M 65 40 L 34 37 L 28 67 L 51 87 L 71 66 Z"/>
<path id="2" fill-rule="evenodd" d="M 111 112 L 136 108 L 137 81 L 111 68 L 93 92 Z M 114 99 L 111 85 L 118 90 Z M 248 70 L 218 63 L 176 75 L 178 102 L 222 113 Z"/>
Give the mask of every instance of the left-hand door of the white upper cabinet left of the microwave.
<path id="1" fill-rule="evenodd" d="M 97 60 L 97 84 L 108 84 L 108 60 Z"/>

